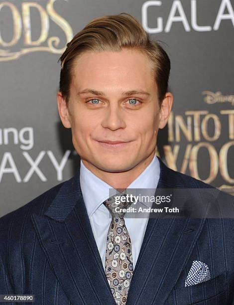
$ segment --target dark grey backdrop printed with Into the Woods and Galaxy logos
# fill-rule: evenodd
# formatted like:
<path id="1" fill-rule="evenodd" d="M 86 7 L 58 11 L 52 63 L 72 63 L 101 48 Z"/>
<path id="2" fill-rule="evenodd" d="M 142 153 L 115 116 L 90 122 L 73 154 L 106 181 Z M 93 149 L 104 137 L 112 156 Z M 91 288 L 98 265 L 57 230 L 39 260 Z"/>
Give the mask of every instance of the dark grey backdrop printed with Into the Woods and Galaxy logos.
<path id="1" fill-rule="evenodd" d="M 234 189 L 234 0 L 0 1 L 0 216 L 80 166 L 60 123 L 58 59 L 91 19 L 128 12 L 171 59 L 173 112 L 158 136 L 172 169 Z"/>

